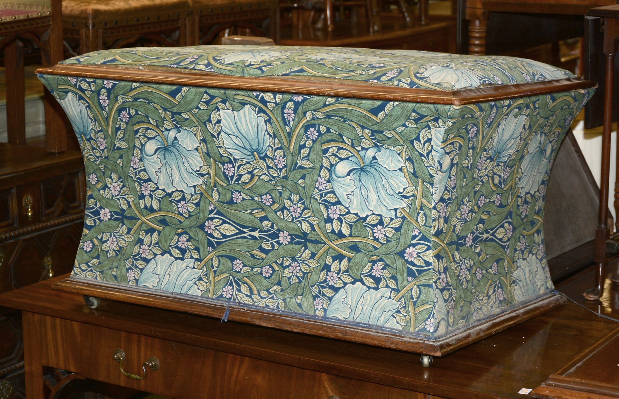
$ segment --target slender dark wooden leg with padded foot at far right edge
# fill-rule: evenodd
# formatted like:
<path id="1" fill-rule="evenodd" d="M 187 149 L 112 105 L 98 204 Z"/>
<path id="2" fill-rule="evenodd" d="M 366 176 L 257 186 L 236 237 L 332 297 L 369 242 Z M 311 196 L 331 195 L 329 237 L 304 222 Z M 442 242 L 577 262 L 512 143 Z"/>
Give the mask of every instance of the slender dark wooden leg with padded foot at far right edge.
<path id="1" fill-rule="evenodd" d="M 604 278 L 608 253 L 606 252 L 606 240 L 609 236 L 608 229 L 608 186 L 610 179 L 610 132 L 612 130 L 613 114 L 613 73 L 615 71 L 615 54 L 617 54 L 617 40 L 615 36 L 617 19 L 604 19 L 604 56 L 606 58 L 606 87 L 604 93 L 604 131 L 602 132 L 602 173 L 600 175 L 600 210 L 598 225 L 595 231 L 595 255 L 597 265 L 595 285 L 586 290 L 582 295 L 586 299 L 599 299 L 604 294 Z"/>

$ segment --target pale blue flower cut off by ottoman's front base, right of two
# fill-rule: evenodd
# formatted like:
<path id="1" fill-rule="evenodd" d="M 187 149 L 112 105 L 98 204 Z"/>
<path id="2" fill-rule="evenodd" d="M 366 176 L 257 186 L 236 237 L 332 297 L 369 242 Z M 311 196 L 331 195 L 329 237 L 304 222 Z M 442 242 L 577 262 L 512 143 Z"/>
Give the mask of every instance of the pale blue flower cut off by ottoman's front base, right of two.
<path id="1" fill-rule="evenodd" d="M 389 288 L 370 290 L 360 282 L 348 284 L 333 296 L 326 316 L 401 330 L 394 317 L 400 302 L 390 296 Z"/>

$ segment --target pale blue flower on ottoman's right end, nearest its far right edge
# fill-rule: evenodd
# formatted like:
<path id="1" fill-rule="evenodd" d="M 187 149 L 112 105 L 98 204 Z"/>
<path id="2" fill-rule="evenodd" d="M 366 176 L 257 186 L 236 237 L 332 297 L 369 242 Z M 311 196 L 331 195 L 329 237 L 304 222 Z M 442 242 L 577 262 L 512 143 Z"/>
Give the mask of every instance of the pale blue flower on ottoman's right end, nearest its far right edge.
<path id="1" fill-rule="evenodd" d="M 522 178 L 520 178 L 517 184 L 522 189 L 521 194 L 535 192 L 542 183 L 544 174 L 546 174 L 548 164 L 550 163 L 550 156 L 552 155 L 552 144 L 546 142 L 542 147 L 545 138 L 546 135 L 543 133 L 535 134 L 529 145 L 527 145 L 528 153 L 520 164 Z"/>

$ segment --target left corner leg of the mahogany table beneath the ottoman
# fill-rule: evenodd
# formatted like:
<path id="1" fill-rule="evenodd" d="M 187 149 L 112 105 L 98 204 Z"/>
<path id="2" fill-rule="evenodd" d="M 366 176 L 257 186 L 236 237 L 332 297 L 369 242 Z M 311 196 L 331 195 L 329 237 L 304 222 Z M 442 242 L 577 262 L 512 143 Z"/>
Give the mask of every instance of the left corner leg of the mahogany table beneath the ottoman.
<path id="1" fill-rule="evenodd" d="M 37 333 L 37 328 L 32 323 L 32 313 L 24 312 L 24 363 L 26 369 L 26 397 L 28 399 L 44 399 L 43 390 L 43 364 L 41 362 L 40 345 L 43 343 Z"/>

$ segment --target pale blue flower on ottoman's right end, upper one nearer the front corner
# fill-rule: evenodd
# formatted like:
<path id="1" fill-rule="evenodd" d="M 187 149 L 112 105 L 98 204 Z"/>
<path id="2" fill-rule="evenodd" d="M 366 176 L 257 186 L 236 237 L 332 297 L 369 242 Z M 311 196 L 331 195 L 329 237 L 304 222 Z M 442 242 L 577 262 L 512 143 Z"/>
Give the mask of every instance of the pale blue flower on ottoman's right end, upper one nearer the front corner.
<path id="1" fill-rule="evenodd" d="M 525 114 L 518 115 L 519 112 L 519 109 L 513 109 L 499 121 L 491 149 L 496 163 L 507 161 L 514 155 L 522 133 L 529 129 L 529 117 Z"/>

